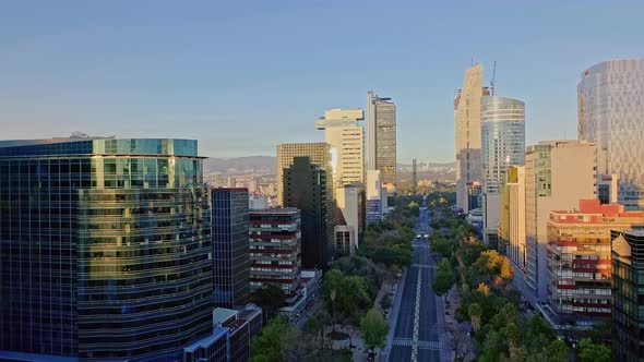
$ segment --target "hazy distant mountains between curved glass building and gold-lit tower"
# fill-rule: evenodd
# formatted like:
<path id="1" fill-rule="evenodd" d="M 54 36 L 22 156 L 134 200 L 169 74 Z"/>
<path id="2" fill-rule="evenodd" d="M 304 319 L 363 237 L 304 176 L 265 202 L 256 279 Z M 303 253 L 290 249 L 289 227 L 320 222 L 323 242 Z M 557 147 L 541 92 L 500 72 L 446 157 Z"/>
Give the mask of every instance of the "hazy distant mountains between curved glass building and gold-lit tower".
<path id="1" fill-rule="evenodd" d="M 277 158 L 272 156 L 248 156 L 236 158 L 206 158 L 203 161 L 204 174 L 222 172 L 275 174 Z"/>

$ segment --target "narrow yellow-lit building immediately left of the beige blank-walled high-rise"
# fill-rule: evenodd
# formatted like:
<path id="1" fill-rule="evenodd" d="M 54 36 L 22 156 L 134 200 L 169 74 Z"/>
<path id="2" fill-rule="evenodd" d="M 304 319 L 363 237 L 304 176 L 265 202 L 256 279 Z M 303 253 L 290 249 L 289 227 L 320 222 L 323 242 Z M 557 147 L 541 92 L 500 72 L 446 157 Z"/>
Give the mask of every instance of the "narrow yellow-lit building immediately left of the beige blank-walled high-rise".
<path id="1" fill-rule="evenodd" d="M 525 273 L 525 167 L 512 166 L 505 172 L 502 192 L 499 240 L 513 265 Z"/>

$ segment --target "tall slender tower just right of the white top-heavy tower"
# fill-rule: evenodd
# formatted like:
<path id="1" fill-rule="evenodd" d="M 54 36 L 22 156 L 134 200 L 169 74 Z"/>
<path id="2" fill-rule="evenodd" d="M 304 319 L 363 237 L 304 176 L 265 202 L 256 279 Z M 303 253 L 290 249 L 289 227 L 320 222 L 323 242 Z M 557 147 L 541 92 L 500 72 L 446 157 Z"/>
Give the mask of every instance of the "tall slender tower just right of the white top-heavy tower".
<path id="1" fill-rule="evenodd" d="M 396 184 L 396 105 L 367 93 L 368 170 L 379 170 L 382 183 Z"/>

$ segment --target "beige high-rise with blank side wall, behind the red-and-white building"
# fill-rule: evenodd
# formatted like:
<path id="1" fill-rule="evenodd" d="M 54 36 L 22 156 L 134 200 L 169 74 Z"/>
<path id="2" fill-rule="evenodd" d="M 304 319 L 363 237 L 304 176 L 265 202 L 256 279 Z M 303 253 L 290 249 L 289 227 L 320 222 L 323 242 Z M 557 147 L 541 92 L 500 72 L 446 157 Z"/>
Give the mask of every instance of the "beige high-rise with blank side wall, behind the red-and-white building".
<path id="1" fill-rule="evenodd" d="M 595 146 L 576 141 L 544 141 L 525 156 L 526 268 L 516 273 L 527 298 L 547 297 L 548 217 L 596 197 Z M 518 270 L 517 270 L 518 272 Z"/>

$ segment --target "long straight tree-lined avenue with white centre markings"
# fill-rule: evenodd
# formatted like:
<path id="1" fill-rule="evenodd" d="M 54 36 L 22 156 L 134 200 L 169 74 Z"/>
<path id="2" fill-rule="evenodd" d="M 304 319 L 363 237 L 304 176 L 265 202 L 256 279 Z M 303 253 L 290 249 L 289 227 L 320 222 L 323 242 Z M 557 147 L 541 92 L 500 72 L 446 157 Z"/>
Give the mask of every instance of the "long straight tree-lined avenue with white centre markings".
<path id="1" fill-rule="evenodd" d="M 430 215 L 420 208 L 416 226 L 417 234 L 431 234 Z M 414 239 L 413 262 L 407 269 L 399 299 L 399 310 L 394 328 L 389 361 L 440 361 L 441 346 L 437 330 L 437 298 L 431 289 L 433 262 L 429 243 L 425 238 Z"/>

